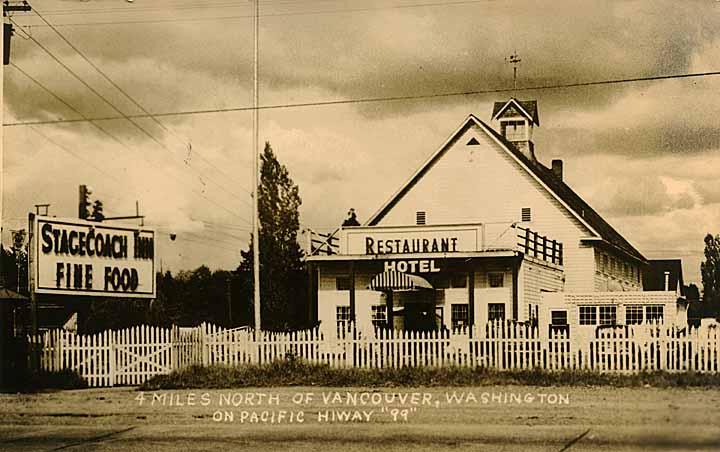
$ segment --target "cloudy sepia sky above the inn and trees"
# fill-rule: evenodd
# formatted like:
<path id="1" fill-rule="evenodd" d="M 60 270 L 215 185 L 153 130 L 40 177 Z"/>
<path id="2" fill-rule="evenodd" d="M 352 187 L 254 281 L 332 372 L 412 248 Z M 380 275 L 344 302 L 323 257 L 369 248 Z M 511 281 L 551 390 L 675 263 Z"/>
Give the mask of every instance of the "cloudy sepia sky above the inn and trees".
<path id="1" fill-rule="evenodd" d="M 3 243 L 35 204 L 76 217 L 86 184 L 108 216 L 139 203 L 164 269 L 236 268 L 252 218 L 252 3 L 30 4 L 55 30 L 12 17 Z M 501 91 L 261 110 L 302 229 L 332 230 L 350 207 L 366 220 L 468 114 L 489 121 L 517 53 L 538 159 L 563 159 L 565 181 L 647 258 L 681 258 L 700 282 L 703 237 L 720 233 L 720 76 L 523 88 L 718 71 L 720 2 L 260 0 L 260 16 L 261 106 Z M 17 124 L 37 121 L 50 123 Z"/>

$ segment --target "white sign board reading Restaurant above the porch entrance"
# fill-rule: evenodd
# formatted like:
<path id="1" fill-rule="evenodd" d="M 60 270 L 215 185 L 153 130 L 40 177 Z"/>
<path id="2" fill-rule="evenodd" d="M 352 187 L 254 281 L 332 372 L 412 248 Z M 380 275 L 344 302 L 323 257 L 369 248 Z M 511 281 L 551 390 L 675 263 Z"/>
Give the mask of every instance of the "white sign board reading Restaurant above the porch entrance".
<path id="1" fill-rule="evenodd" d="M 345 231 L 344 231 L 345 232 Z M 425 254 L 478 251 L 481 230 L 468 227 L 352 228 L 346 254 Z"/>

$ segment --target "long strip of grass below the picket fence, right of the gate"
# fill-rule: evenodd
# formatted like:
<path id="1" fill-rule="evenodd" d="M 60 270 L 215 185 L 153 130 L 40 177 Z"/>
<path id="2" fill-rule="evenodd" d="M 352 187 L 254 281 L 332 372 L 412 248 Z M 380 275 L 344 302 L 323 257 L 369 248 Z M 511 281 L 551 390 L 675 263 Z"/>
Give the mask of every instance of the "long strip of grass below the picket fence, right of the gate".
<path id="1" fill-rule="evenodd" d="M 263 365 L 192 366 L 158 375 L 140 390 L 226 389 L 278 386 L 433 387 L 433 386 L 611 386 L 720 387 L 720 375 L 694 372 L 648 372 L 629 375 L 593 371 L 541 369 L 497 371 L 477 368 L 402 367 L 335 369 L 298 360 Z"/>

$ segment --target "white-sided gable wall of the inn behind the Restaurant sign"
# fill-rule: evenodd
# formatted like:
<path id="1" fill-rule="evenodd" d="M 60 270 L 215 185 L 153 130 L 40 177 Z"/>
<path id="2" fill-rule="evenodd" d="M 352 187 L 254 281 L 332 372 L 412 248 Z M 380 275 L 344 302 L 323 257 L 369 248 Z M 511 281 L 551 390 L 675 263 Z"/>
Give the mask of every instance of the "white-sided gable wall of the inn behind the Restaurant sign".
<path id="1" fill-rule="evenodd" d="M 467 146 L 470 138 L 480 144 Z M 397 201 L 378 225 L 411 225 L 419 210 L 428 224 L 511 223 L 523 207 L 532 209 L 534 231 L 564 246 L 566 289 L 594 289 L 594 252 L 580 243 L 591 236 L 573 214 L 513 157 L 477 126 L 459 136 L 433 166 Z"/>

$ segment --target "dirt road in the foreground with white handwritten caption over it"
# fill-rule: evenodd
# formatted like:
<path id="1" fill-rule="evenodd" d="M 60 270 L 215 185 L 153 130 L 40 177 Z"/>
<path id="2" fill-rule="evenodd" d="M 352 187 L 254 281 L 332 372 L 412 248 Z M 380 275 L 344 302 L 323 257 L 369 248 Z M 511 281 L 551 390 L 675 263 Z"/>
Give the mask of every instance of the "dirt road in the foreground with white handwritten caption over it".
<path id="1" fill-rule="evenodd" d="M 0 450 L 720 450 L 720 390 L 132 388 L 0 395 Z"/>

